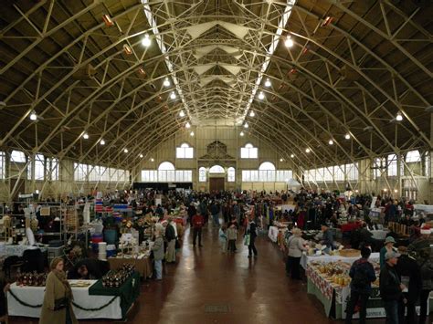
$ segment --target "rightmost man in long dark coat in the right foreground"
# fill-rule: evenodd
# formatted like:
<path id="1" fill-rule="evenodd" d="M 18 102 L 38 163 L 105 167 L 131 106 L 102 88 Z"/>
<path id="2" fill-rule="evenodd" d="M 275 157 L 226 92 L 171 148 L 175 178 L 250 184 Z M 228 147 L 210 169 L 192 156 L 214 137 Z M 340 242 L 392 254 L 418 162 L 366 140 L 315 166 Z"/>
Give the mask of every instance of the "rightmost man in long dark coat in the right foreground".
<path id="1" fill-rule="evenodd" d="M 396 272 L 400 281 L 407 286 L 407 291 L 403 292 L 403 303 L 399 307 L 400 322 L 404 323 L 405 307 L 407 307 L 407 323 L 416 322 L 415 303 L 421 292 L 421 273 L 417 265 L 417 260 L 407 255 L 407 247 L 399 246 L 400 257 L 396 265 Z"/>

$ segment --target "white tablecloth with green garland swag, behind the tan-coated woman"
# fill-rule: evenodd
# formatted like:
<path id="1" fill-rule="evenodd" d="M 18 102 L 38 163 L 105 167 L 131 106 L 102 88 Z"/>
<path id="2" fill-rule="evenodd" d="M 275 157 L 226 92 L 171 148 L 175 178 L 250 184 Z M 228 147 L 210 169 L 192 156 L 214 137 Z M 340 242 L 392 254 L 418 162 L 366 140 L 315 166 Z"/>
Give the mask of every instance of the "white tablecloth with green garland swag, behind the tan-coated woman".
<path id="1" fill-rule="evenodd" d="M 76 280 L 69 280 L 74 282 Z M 90 280 L 95 283 L 96 280 Z M 89 286 L 90 287 L 90 286 Z M 72 287 L 74 303 L 82 308 L 99 308 L 107 304 L 113 296 L 89 295 L 89 287 Z M 44 301 L 45 287 L 18 287 L 16 283 L 11 285 L 11 290 L 17 298 L 29 305 L 40 305 Z M 77 319 L 121 319 L 121 298 L 117 297 L 114 301 L 100 310 L 82 310 L 74 308 Z M 16 298 L 7 293 L 7 311 L 9 316 L 23 316 L 28 318 L 39 318 L 41 308 L 29 308 L 21 305 Z"/>

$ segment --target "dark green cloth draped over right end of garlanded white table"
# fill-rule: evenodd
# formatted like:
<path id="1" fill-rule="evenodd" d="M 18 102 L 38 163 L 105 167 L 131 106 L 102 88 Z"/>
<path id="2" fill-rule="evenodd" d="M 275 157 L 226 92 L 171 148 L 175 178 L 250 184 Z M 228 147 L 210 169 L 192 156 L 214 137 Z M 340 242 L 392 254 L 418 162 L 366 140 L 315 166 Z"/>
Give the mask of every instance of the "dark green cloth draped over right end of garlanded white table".
<path id="1" fill-rule="evenodd" d="M 89 288 L 89 295 L 120 296 L 121 317 L 126 318 L 126 312 L 131 308 L 135 299 L 140 295 L 140 274 L 134 272 L 121 287 L 103 287 L 102 280 L 98 280 Z"/>

